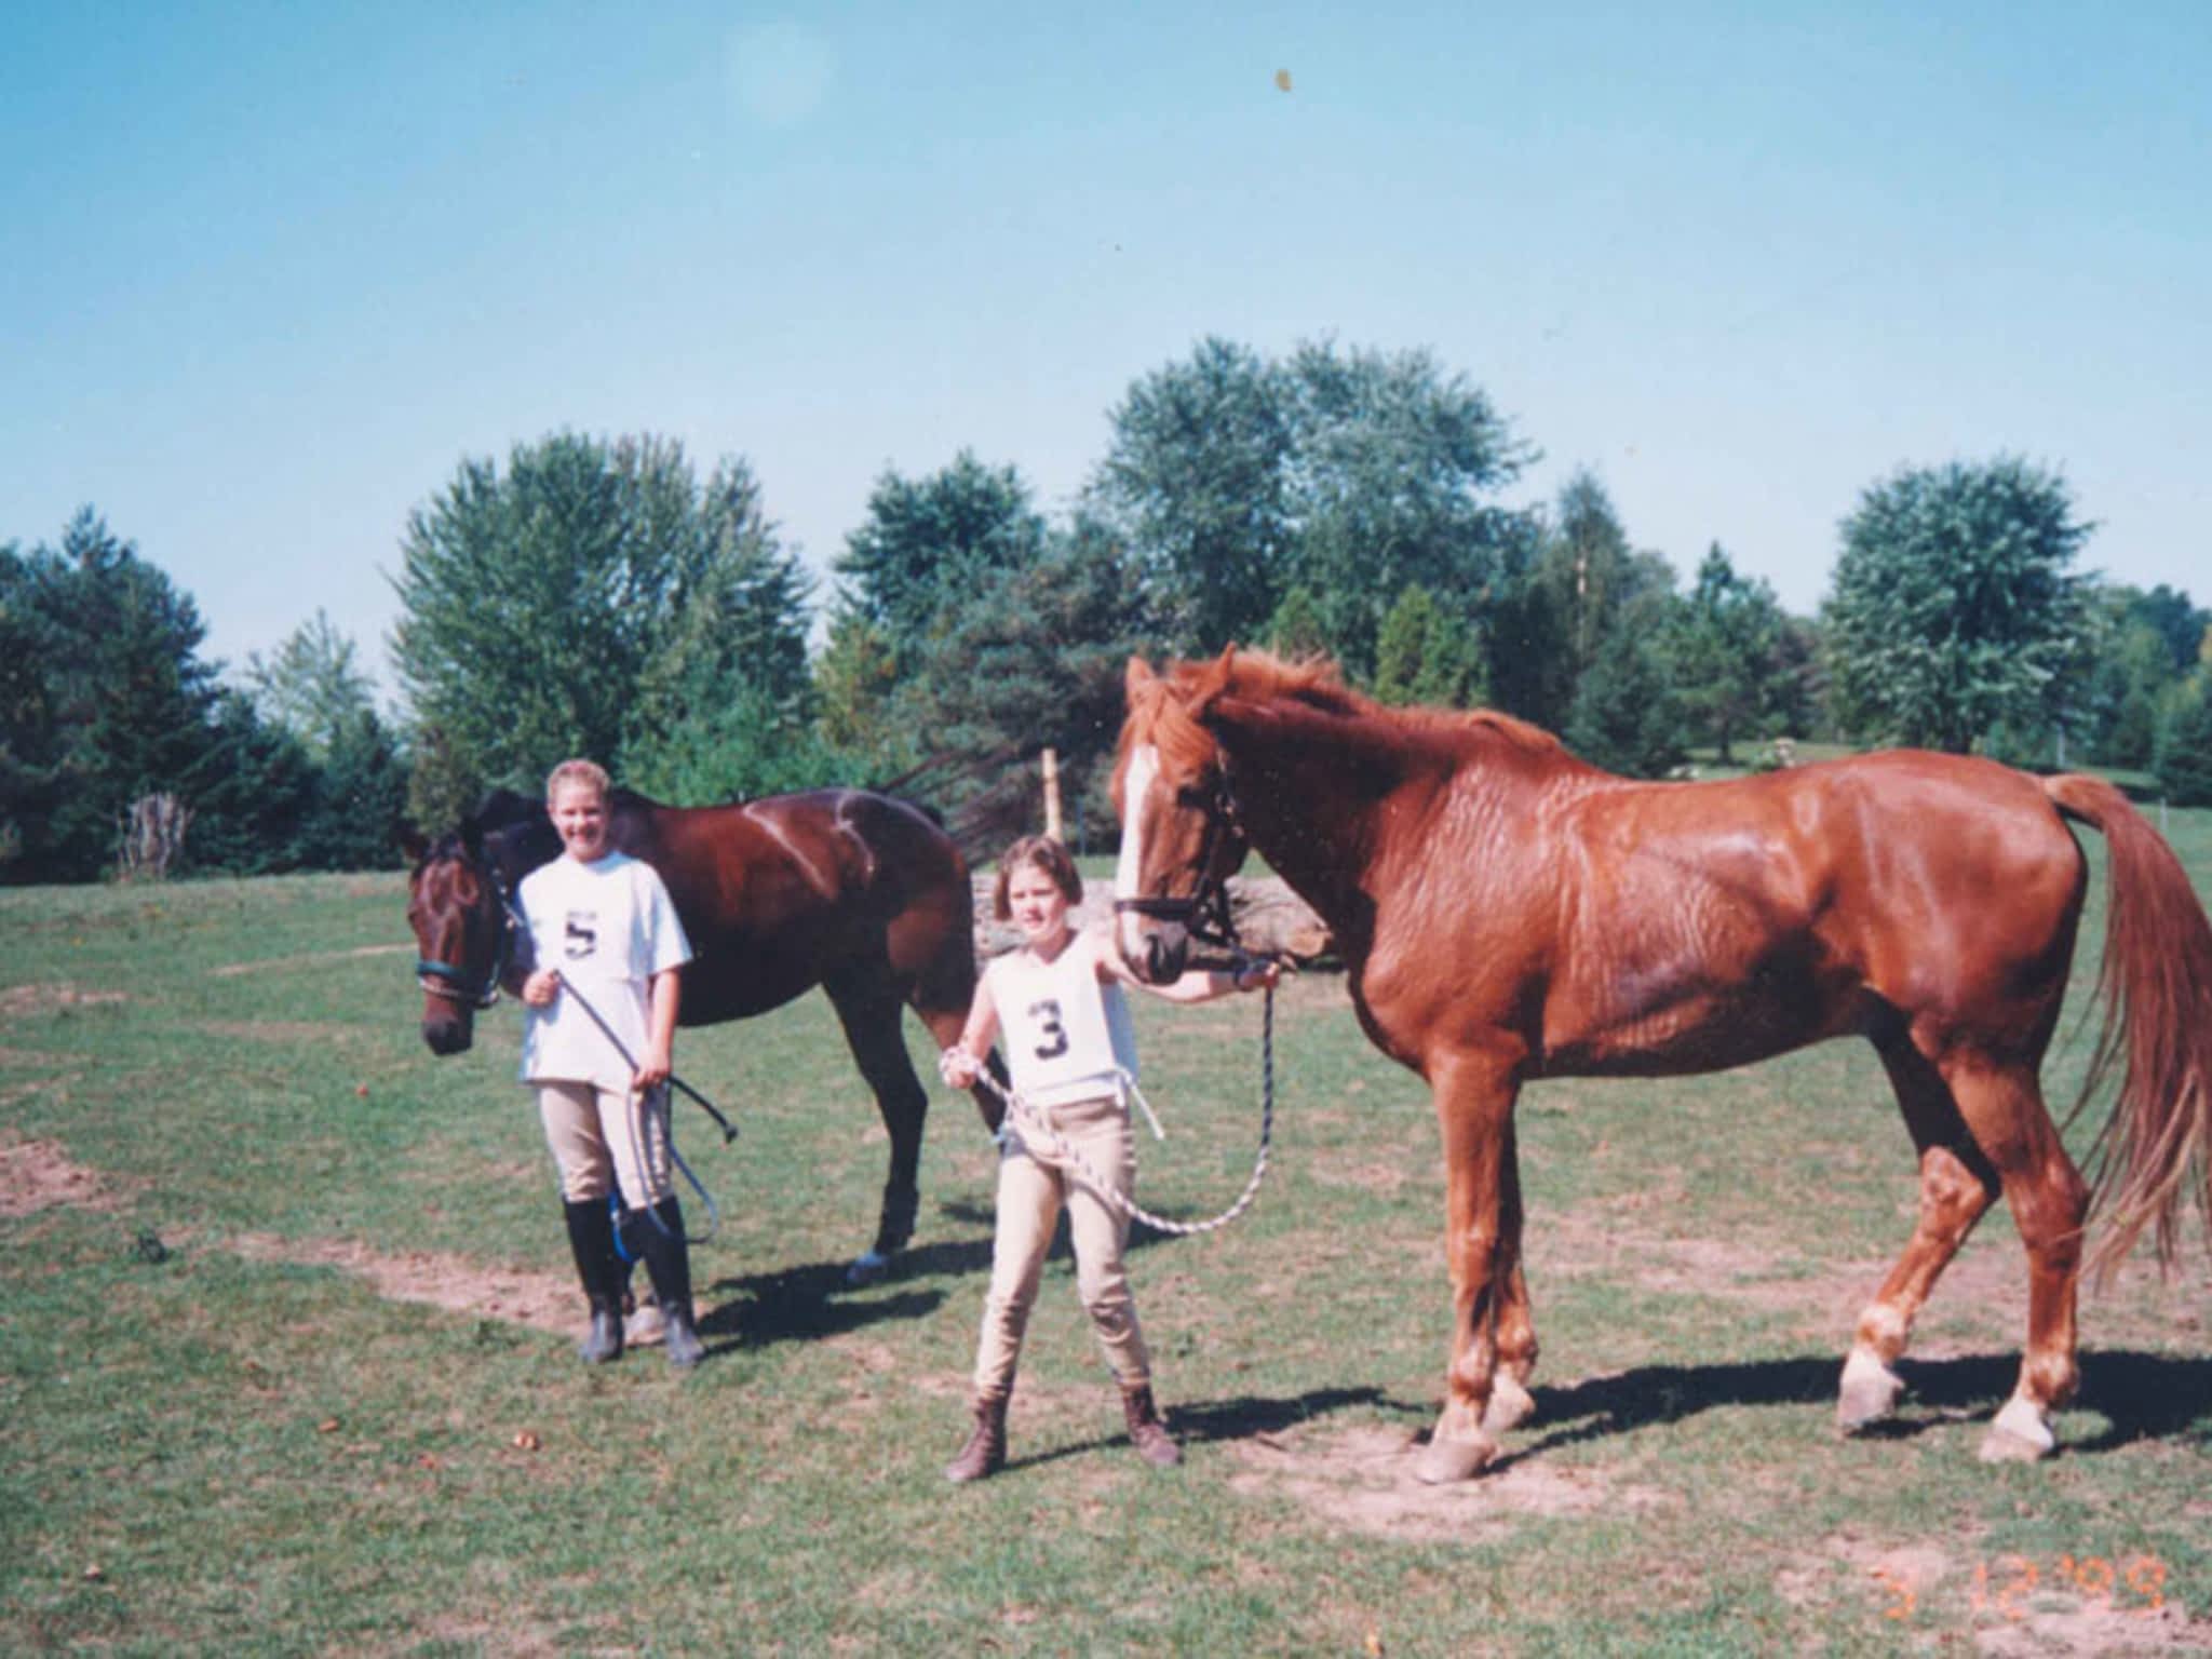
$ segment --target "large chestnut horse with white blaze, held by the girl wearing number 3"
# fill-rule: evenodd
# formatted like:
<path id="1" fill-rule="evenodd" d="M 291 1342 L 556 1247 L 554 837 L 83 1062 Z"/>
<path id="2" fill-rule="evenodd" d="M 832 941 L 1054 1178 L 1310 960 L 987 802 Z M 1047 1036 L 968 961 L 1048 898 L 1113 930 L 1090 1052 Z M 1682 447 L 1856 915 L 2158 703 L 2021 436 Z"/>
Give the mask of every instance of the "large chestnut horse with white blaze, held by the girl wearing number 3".
<path id="1" fill-rule="evenodd" d="M 1719 783 L 1632 783 L 1504 714 L 1394 710 L 1325 664 L 1230 648 L 1128 666 L 1115 768 L 1117 940 L 1172 978 L 1190 918 L 1256 847 L 1321 914 L 1367 1037 L 1436 1097 L 1453 1340 L 1425 1480 L 1473 1475 L 1533 1409 L 1513 1099 L 1535 1077 L 1721 1071 L 1867 1037 L 1920 1152 L 1920 1221 L 1858 1318 L 1838 1420 L 1887 1416 L 1913 1316 L 2002 1194 L 2028 1254 L 2020 1383 L 1984 1458 L 2053 1449 L 2075 1369 L 2090 1190 L 2037 1071 L 2088 860 L 2110 918 L 2093 1079 L 2110 1265 L 2170 1261 L 2185 1190 L 2212 1214 L 2212 925 L 2181 863 L 2088 776 L 1885 752 Z"/>

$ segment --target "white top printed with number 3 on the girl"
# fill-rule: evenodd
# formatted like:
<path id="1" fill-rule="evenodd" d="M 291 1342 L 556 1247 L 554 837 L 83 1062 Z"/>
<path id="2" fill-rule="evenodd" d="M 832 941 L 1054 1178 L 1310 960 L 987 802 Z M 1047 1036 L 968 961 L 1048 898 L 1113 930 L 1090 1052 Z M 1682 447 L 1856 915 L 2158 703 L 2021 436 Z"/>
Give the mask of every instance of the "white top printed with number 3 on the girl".
<path id="1" fill-rule="evenodd" d="M 1013 1086 L 1033 1106 L 1113 1095 L 1137 1082 L 1137 1033 L 1117 980 L 1099 980 L 1097 933 L 1077 933 L 1051 962 L 1026 947 L 984 969 Z"/>

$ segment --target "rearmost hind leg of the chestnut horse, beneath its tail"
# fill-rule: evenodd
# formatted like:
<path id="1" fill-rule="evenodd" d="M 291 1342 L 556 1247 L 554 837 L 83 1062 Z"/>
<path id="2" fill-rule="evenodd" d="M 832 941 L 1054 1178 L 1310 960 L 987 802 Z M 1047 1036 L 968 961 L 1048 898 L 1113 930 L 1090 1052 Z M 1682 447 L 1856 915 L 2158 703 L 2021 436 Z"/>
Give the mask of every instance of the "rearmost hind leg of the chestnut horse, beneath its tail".
<path id="1" fill-rule="evenodd" d="M 2088 1188 L 2059 1144 L 2033 1062 L 1960 1051 L 1944 1060 L 1944 1082 L 1973 1139 L 2004 1183 L 2004 1201 L 2028 1252 L 2028 1345 L 2020 1383 L 1982 1440 L 1984 1462 L 2026 1462 L 2057 1447 L 2051 1413 L 2073 1398 L 2075 1292 L 2081 1281 L 2081 1223 Z"/>

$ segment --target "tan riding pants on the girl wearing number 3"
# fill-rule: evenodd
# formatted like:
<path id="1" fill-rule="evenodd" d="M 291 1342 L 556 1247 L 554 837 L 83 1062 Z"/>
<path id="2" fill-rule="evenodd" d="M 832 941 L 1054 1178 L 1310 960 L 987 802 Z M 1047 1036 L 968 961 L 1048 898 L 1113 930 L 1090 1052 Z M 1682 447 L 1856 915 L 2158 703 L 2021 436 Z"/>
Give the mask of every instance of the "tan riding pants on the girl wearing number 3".
<path id="1" fill-rule="evenodd" d="M 1022 1332 L 1037 1301 L 1044 1254 L 1053 1248 L 1053 1225 L 1068 1210 L 1075 1241 L 1075 1292 L 1091 1314 L 1106 1363 L 1121 1387 L 1152 1378 L 1152 1356 L 1137 1325 L 1137 1303 L 1128 1290 L 1121 1254 L 1128 1217 L 1091 1188 L 1088 1175 L 1068 1168 L 1060 1150 L 1015 1117 L 998 1159 L 998 1234 L 991 1243 L 991 1290 L 982 1303 L 982 1340 L 975 1347 L 975 1391 L 1006 1394 L 1022 1358 Z M 1113 1097 L 1051 1108 L 1053 1126 L 1117 1192 L 1130 1190 L 1137 1148 L 1128 1130 L 1128 1108 Z"/>

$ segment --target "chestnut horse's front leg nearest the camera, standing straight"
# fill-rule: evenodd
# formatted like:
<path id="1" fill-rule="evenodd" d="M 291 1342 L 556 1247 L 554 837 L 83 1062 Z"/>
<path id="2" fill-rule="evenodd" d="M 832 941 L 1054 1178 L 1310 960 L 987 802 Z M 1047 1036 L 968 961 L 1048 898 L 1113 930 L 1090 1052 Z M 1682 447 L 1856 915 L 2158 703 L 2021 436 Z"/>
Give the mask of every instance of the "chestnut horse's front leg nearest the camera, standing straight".
<path id="1" fill-rule="evenodd" d="M 1467 1480 L 1495 1453 L 1482 1427 L 1498 1376 L 1498 1314 L 1511 1265 L 1504 1252 L 1504 1170 L 1511 1161 L 1513 1077 L 1486 1055 L 1431 1064 L 1444 1139 L 1444 1265 L 1451 1274 L 1451 1367 L 1444 1411 L 1413 1464 L 1420 1480 Z"/>

